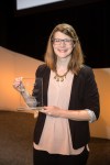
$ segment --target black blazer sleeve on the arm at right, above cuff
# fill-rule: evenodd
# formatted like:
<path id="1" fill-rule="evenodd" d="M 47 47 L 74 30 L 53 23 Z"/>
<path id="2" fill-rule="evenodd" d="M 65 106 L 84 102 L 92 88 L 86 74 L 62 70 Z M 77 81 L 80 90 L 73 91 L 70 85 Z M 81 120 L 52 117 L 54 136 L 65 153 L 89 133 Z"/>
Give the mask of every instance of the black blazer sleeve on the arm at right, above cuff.
<path id="1" fill-rule="evenodd" d="M 95 112 L 96 118 L 100 114 L 99 91 L 95 79 L 94 70 L 90 67 L 85 72 L 85 94 L 84 94 L 85 107 Z"/>

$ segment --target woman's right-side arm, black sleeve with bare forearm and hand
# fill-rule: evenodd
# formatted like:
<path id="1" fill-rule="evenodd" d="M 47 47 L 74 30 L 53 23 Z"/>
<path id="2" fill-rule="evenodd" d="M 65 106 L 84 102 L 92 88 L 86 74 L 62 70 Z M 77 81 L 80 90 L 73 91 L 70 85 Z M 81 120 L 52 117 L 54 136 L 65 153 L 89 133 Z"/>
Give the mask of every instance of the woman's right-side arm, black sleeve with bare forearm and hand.
<path id="1" fill-rule="evenodd" d="M 80 89 L 82 91 L 80 92 L 80 95 L 82 96 L 82 102 L 78 102 L 78 105 L 82 103 L 84 109 L 63 110 L 58 107 L 44 107 L 44 110 L 42 110 L 42 112 L 50 116 L 67 118 L 75 121 L 96 121 L 99 118 L 100 110 L 99 94 L 94 73 L 90 68 L 81 72 L 80 82 L 77 85 L 77 94 L 80 92 Z"/>

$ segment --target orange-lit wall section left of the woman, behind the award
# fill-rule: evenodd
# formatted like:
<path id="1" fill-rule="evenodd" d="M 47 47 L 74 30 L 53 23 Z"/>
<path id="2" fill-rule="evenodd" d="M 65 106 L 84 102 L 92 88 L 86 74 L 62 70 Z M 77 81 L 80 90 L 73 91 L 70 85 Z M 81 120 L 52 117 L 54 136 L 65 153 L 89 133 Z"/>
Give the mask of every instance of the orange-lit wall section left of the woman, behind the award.
<path id="1" fill-rule="evenodd" d="M 42 61 L 0 47 L 0 109 L 16 110 L 20 95 L 12 87 L 15 77 L 34 78 Z"/>

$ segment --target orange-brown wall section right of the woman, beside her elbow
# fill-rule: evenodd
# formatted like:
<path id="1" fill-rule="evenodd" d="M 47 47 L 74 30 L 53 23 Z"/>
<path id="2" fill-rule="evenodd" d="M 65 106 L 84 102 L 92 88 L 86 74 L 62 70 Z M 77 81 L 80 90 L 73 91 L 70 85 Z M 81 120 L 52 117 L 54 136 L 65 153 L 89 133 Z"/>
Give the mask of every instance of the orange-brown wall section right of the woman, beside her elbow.
<path id="1" fill-rule="evenodd" d="M 100 94 L 100 118 L 90 124 L 91 135 L 110 139 L 110 68 L 94 72 Z"/>

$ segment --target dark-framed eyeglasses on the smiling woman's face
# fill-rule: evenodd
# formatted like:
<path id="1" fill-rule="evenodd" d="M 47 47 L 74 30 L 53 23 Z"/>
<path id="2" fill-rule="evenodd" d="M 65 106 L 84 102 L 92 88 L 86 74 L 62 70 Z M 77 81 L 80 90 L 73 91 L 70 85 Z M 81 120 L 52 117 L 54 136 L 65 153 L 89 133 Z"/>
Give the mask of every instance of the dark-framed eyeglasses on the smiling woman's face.
<path id="1" fill-rule="evenodd" d="M 52 42 L 55 45 L 61 45 L 62 43 L 66 45 L 70 45 L 73 43 L 73 40 L 72 38 L 53 38 Z"/>

